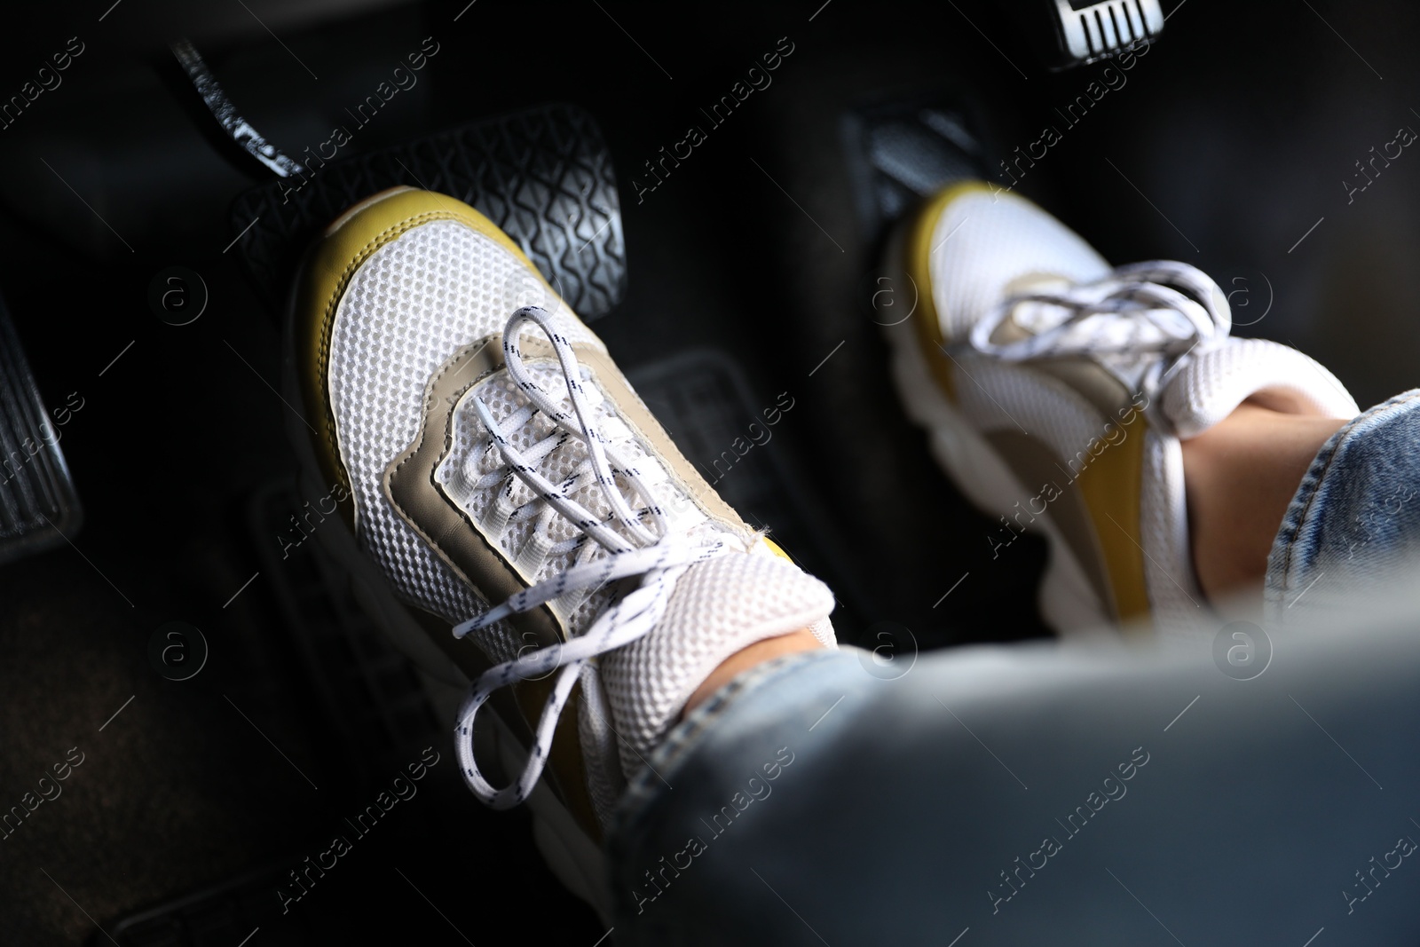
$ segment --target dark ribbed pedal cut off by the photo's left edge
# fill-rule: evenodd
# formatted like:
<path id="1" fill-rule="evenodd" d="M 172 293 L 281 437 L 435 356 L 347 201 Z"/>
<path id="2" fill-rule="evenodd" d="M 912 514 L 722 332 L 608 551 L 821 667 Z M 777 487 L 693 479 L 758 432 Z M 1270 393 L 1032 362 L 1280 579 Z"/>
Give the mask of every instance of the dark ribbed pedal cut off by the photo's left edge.
<path id="1" fill-rule="evenodd" d="M 62 545 L 78 530 L 80 501 L 60 450 L 62 433 L 50 420 L 0 300 L 0 562 Z"/>

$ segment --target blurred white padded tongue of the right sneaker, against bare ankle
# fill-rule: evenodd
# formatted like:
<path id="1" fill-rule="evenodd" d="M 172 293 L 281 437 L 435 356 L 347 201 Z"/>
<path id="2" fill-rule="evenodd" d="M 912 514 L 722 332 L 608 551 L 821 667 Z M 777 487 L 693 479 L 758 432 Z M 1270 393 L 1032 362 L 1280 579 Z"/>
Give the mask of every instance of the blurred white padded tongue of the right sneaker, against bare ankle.
<path id="1" fill-rule="evenodd" d="M 1235 338 L 1193 352 L 1164 388 L 1162 406 L 1179 437 L 1187 440 L 1260 392 L 1287 396 L 1296 413 L 1325 417 L 1360 413 L 1336 376 L 1316 361 L 1267 339 Z"/>

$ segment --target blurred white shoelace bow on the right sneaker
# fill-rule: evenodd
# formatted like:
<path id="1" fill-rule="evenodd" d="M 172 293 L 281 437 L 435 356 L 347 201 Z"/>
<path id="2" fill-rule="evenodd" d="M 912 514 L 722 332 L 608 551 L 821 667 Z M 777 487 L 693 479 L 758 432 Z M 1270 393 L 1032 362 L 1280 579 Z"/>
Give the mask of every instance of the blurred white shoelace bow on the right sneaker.
<path id="1" fill-rule="evenodd" d="M 991 342 L 1025 302 L 1058 305 L 1069 315 L 1035 335 Z M 1169 430 L 1160 392 L 1196 348 L 1221 344 L 1231 331 L 1227 300 L 1211 277 L 1187 263 L 1159 260 L 1118 267 L 1093 283 L 1010 297 L 973 327 L 970 348 L 1008 362 L 1058 355 L 1149 358 L 1137 381 L 1149 399 L 1145 413 Z"/>

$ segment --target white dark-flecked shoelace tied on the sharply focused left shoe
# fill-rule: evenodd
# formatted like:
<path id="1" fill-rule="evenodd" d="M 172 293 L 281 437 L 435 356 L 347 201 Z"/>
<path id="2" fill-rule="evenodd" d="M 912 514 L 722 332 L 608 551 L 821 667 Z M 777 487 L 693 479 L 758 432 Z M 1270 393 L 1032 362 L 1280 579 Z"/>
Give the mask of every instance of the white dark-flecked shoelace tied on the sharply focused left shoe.
<path id="1" fill-rule="evenodd" d="M 557 352 L 558 363 L 567 381 L 567 393 L 572 402 L 572 415 L 562 410 L 561 399 L 554 400 L 532 379 L 523 363 L 518 338 L 528 322 L 542 329 L 552 342 L 552 349 Z M 459 758 L 459 768 L 463 772 L 464 782 L 469 784 L 474 795 L 496 809 L 507 809 L 518 805 L 532 792 L 532 787 L 537 785 L 538 777 L 547 765 L 557 720 L 588 663 L 598 655 L 629 645 L 650 632 L 665 613 L 670 591 L 680 574 L 690 565 L 709 559 L 724 549 L 724 545 L 720 542 L 707 544 L 701 541 L 694 544 L 684 537 L 670 532 L 666 515 L 655 493 L 643 483 L 642 474 L 633 464 L 623 460 L 599 430 L 592 410 L 586 403 L 577 356 L 568 341 L 554 328 L 551 315 L 537 307 L 524 307 L 514 312 L 503 331 L 503 354 L 508 376 L 530 403 L 500 423 L 493 419 L 488 406 L 481 399 L 474 402 L 479 417 L 493 439 L 490 449 L 498 451 L 504 464 L 503 469 L 487 474 L 484 480 L 488 483 L 483 486 L 493 486 L 494 483 L 507 480 L 507 490 L 511 491 L 513 477 L 521 480 L 537 494 L 537 498 L 528 503 L 527 507 L 542 507 L 544 515 L 550 515 L 551 511 L 561 513 L 581 531 L 574 540 L 554 547 L 554 551 L 568 552 L 591 538 L 606 551 L 606 555 L 595 562 L 588 562 L 586 555 L 596 547 L 586 544 L 575 565 L 518 592 L 507 602 L 481 616 L 454 626 L 454 637 L 463 637 L 469 632 L 487 628 L 508 615 L 535 609 L 568 592 L 591 589 L 589 593 L 595 593 L 596 589 L 615 579 L 638 575 L 643 578 L 635 591 L 629 592 L 625 598 L 613 601 L 582 635 L 568 642 L 538 649 L 530 655 L 520 655 L 514 660 L 491 667 L 469 689 L 469 696 L 464 697 L 459 708 L 459 723 L 454 728 L 454 752 Z M 552 422 L 557 429 L 551 436 L 525 451 L 517 450 L 508 443 L 508 434 L 531 422 L 538 413 Z M 582 466 L 567 477 L 567 480 L 561 484 L 554 484 L 537 471 L 537 464 L 558 446 L 567 443 L 568 439 L 585 443 L 588 456 Z M 592 481 L 606 498 L 611 507 L 611 520 L 626 535 L 611 528 L 608 522 L 604 522 L 586 507 L 569 498 L 568 493 L 571 488 L 582 483 L 588 476 L 592 477 Z M 632 511 L 628 497 L 613 478 L 616 476 L 621 476 L 629 484 L 632 493 L 639 496 L 646 504 L 645 513 L 650 517 L 652 528 L 646 528 L 640 522 L 640 515 Z M 521 518 L 521 511 L 514 515 Z M 545 677 L 558 669 L 561 672 L 534 730 L 527 765 L 511 785 L 501 789 L 494 788 L 479 771 L 479 765 L 473 758 L 474 716 L 493 691 L 500 687 L 518 680 Z M 588 684 L 595 681 L 594 674 L 588 674 L 586 677 Z"/>

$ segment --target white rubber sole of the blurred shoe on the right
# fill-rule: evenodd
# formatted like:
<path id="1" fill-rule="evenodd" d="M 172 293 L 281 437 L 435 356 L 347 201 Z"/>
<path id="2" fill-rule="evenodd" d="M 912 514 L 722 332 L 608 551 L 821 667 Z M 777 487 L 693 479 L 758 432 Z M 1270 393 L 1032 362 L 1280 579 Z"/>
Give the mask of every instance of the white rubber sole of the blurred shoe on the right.
<path id="1" fill-rule="evenodd" d="M 895 241 L 889 250 L 888 271 L 902 273 L 896 247 Z M 927 287 L 919 287 L 919 292 L 929 291 Z M 907 416 L 930 434 L 933 457 L 967 500 L 993 520 L 1010 520 L 1015 504 L 1034 497 L 1037 491 L 1020 483 L 1010 464 L 943 395 L 919 348 L 917 329 L 912 325 L 912 319 L 920 318 L 924 318 L 923 314 L 914 311 L 897 325 L 882 327 L 892 349 L 892 376 L 897 395 Z M 1118 633 L 1109 630 L 1115 625 L 1110 609 L 1099 599 L 1049 511 L 1037 515 L 1025 530 L 1044 535 L 1049 544 L 1038 593 L 1041 619 L 1064 639 L 1118 639 Z M 985 541 L 987 537 L 983 537 L 983 542 Z"/>

